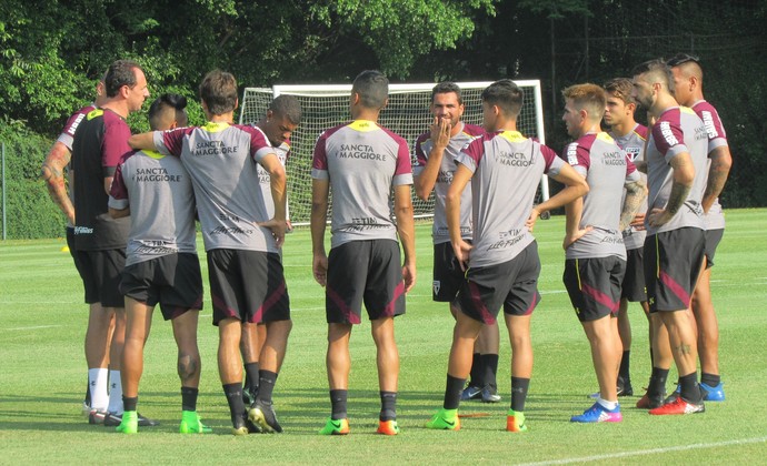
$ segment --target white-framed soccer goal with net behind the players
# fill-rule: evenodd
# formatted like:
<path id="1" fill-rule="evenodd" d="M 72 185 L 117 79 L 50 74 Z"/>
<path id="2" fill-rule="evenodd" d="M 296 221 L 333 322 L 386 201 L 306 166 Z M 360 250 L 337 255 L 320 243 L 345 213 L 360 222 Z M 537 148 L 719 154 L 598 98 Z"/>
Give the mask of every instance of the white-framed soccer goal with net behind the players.
<path id="1" fill-rule="evenodd" d="M 544 114 L 540 99 L 540 81 L 516 81 L 525 92 L 525 103 L 517 122 L 519 131 L 546 143 Z M 490 82 L 459 82 L 462 91 L 464 121 L 482 124 L 481 93 Z M 380 113 L 379 123 L 405 138 L 411 152 L 416 138 L 428 131 L 434 116 L 429 112 L 431 89 L 435 83 L 389 84 L 389 104 Z M 290 138 L 291 154 L 287 164 L 290 220 L 295 225 L 309 224 L 311 215 L 311 156 L 315 142 L 322 131 L 351 120 L 349 92 L 351 84 L 330 85 L 275 85 L 273 88 L 246 88 L 240 109 L 240 123 L 259 121 L 273 98 L 295 95 L 303 109 L 303 121 Z M 412 153 L 411 153 L 412 156 Z M 514 186 L 509 186 L 514 189 Z M 416 217 L 429 217 L 434 212 L 434 194 L 425 202 L 412 194 Z M 544 175 L 536 203 L 547 200 L 548 180 Z"/>

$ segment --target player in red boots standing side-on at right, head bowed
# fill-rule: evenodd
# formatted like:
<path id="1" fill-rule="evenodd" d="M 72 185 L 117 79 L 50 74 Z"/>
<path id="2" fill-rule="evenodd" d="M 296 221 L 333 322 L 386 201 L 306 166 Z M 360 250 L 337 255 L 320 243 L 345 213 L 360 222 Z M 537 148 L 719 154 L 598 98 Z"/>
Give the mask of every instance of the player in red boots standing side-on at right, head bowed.
<path id="1" fill-rule="evenodd" d="M 674 99 L 674 78 L 661 60 L 634 69 L 632 97 L 657 121 L 645 153 L 649 185 L 645 219 L 645 282 L 650 314 L 668 332 L 679 373 L 679 395 L 664 403 L 669 366 L 660 362 L 661 325 L 653 323 L 653 374 L 647 389 L 649 413 L 691 414 L 705 411 L 697 379 L 694 323 L 686 314 L 704 259 L 704 213 L 708 141 L 703 121 Z M 640 162 L 639 165 L 643 165 Z"/>

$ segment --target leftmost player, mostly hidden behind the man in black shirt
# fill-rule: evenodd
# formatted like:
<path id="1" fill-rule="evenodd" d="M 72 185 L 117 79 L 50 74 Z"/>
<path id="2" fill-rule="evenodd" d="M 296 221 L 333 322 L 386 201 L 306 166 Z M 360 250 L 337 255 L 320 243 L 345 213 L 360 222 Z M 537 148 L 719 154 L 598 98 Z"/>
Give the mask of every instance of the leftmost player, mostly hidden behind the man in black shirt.
<path id="1" fill-rule="evenodd" d="M 106 99 L 107 94 L 104 93 L 102 78 L 96 84 L 96 100 L 93 103 L 81 108 L 77 112 L 72 113 L 72 115 L 67 120 L 64 128 L 61 130 L 61 134 L 59 134 L 59 138 L 51 146 L 51 150 L 46 156 L 46 160 L 42 162 L 42 166 L 40 169 L 40 179 L 46 182 L 48 194 L 67 217 L 67 247 L 69 249 L 69 254 L 74 261 L 76 269 L 80 267 L 80 263 L 77 259 L 78 256 L 74 249 L 74 205 L 71 197 L 74 172 L 71 170 L 69 162 L 72 160 L 72 143 L 74 142 L 74 132 L 77 131 L 77 126 L 88 113 L 90 113 L 92 110 L 96 110 L 97 107 L 102 105 L 106 102 Z M 64 182 L 64 172 L 67 172 L 68 175 L 68 183 Z M 69 188 L 67 184 L 69 184 Z M 100 303 L 91 303 L 89 304 L 89 307 L 94 307 L 92 313 L 102 312 L 100 310 Z M 114 321 L 112 320 L 110 322 L 111 325 L 109 335 L 111 335 L 114 330 Z M 94 350 L 97 348 L 86 343 L 87 352 Z M 109 364 L 109 352 L 101 348 L 98 351 L 98 356 L 103 358 L 99 366 L 106 367 Z M 86 357 L 86 359 L 88 361 L 89 358 Z M 104 391 L 102 397 L 106 398 L 108 396 L 107 385 L 103 384 L 103 386 L 100 388 Z M 86 383 L 86 398 L 82 402 L 82 413 L 86 416 L 89 416 L 90 414 L 90 383 Z"/>

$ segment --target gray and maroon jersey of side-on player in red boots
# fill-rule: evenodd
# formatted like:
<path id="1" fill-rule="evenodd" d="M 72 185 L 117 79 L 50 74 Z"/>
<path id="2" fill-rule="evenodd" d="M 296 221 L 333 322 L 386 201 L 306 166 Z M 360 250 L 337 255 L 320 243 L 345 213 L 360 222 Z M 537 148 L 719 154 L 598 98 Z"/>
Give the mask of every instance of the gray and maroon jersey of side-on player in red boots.
<path id="1" fill-rule="evenodd" d="M 647 144 L 647 182 L 649 184 L 648 212 L 665 209 L 671 194 L 674 170 L 671 160 L 687 152 L 695 168 L 695 181 L 684 205 L 674 217 L 660 227 L 645 221 L 647 234 L 668 232 L 685 226 L 705 229 L 700 200 L 706 186 L 706 161 L 708 160 L 708 135 L 703 120 L 686 107 L 673 107 L 660 114 L 653 126 Z"/>

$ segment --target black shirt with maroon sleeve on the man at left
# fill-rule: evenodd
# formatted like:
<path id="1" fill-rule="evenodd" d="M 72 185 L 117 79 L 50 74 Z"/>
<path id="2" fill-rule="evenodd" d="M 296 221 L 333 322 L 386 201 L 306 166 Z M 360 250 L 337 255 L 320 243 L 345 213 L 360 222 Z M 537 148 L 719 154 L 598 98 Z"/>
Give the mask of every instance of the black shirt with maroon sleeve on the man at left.
<path id="1" fill-rule="evenodd" d="M 109 109 L 91 110 L 78 123 L 72 143 L 74 183 L 74 247 L 78 251 L 106 251 L 126 247 L 130 220 L 112 219 L 107 203 L 104 178 L 114 175 L 128 145 L 128 123 Z"/>

